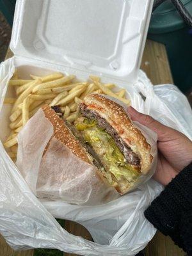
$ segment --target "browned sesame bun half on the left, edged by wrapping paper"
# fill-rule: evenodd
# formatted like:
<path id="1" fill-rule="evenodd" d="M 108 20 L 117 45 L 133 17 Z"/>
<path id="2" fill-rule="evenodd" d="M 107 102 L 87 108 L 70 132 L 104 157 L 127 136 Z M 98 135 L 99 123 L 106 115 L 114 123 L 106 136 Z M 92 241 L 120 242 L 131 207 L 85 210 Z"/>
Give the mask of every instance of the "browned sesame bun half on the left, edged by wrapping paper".
<path id="1" fill-rule="evenodd" d="M 49 120 L 49 122 L 51 122 L 53 126 L 54 134 L 52 135 L 52 137 L 61 141 L 61 143 L 68 147 L 75 156 L 81 158 L 87 163 L 92 163 L 90 157 L 88 157 L 86 150 L 81 145 L 81 143 L 79 143 L 74 134 L 72 134 L 70 129 L 65 124 L 64 120 L 62 120 L 56 114 L 56 112 L 49 107 L 49 105 L 43 106 L 42 110 L 44 111 L 45 117 Z M 49 147 L 49 144 L 47 145 L 47 147 Z"/>

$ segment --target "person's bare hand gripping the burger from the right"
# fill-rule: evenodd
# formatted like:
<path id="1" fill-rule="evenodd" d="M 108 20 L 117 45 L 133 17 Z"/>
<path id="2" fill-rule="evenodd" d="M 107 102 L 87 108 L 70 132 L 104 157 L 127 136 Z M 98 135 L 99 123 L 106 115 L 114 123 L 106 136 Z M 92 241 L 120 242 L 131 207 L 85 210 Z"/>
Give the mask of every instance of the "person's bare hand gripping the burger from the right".
<path id="1" fill-rule="evenodd" d="M 192 161 L 192 141 L 184 134 L 129 107 L 129 115 L 157 133 L 158 161 L 154 179 L 166 186 Z"/>

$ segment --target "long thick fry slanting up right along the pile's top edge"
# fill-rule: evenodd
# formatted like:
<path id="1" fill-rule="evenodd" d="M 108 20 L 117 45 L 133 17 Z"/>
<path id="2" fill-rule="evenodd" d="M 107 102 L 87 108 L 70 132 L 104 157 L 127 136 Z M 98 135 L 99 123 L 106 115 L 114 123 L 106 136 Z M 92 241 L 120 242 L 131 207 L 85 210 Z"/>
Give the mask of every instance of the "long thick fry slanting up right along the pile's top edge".
<path id="1" fill-rule="evenodd" d="M 65 85 L 66 83 L 72 81 L 72 79 L 74 79 L 75 76 L 66 76 L 66 77 L 62 77 L 60 79 L 54 80 L 54 81 L 50 81 L 47 83 L 41 83 L 38 86 L 36 86 L 35 88 L 33 88 L 33 93 L 37 92 L 40 89 L 46 89 L 46 88 L 55 88 L 61 85 Z"/>

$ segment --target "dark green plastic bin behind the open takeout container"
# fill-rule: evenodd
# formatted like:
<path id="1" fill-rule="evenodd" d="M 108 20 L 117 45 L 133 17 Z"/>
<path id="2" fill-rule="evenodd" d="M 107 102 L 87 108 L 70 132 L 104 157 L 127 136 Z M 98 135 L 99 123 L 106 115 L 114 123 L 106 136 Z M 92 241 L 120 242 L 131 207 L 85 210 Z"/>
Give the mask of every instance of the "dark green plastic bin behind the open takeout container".
<path id="1" fill-rule="evenodd" d="M 182 0 L 192 15 L 192 0 Z M 171 1 L 152 14 L 148 38 L 166 45 L 174 83 L 189 92 L 192 88 L 192 29 L 188 28 Z"/>

